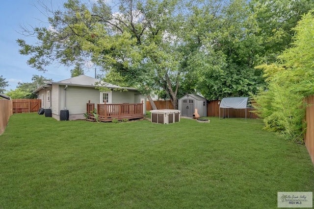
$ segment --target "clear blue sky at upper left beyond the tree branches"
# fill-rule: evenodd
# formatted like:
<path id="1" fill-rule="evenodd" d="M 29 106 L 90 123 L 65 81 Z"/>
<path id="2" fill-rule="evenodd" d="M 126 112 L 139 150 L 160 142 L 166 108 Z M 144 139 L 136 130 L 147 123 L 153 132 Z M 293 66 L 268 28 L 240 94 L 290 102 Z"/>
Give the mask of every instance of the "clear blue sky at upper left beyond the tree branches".
<path id="1" fill-rule="evenodd" d="M 54 7 L 62 6 L 66 0 L 41 0 Z M 53 81 L 60 81 L 71 77 L 70 69 L 66 67 L 50 66 L 47 72 L 41 72 L 26 64 L 28 56 L 20 55 L 16 40 L 35 39 L 25 38 L 17 31 L 21 31 L 20 25 L 43 26 L 47 18 L 33 4 L 37 0 L 4 0 L 0 6 L 0 75 L 8 81 L 7 90 L 14 90 L 18 82 L 31 82 L 33 75 L 42 75 Z M 72 68 L 71 68 L 72 69 Z M 94 76 L 91 70 L 86 75 Z"/>

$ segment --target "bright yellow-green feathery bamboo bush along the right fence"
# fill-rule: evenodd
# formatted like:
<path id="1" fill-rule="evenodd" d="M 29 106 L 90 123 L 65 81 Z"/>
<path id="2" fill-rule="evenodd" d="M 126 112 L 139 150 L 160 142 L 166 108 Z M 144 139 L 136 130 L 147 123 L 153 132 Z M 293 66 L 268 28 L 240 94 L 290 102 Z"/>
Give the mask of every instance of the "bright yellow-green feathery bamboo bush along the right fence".
<path id="1" fill-rule="evenodd" d="M 257 114 L 265 128 L 286 139 L 303 142 L 305 104 L 303 98 L 314 93 L 314 15 L 304 15 L 294 30 L 293 46 L 278 56 L 281 62 L 258 66 L 264 71 L 266 91 L 254 96 Z M 312 44 L 311 44 L 312 43 Z"/>

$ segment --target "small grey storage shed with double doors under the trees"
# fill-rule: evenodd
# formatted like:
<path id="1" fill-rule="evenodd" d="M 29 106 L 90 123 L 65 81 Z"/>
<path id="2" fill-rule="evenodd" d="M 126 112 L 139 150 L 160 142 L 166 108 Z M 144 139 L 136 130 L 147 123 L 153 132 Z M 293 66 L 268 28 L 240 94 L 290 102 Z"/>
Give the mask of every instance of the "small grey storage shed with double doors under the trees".
<path id="1" fill-rule="evenodd" d="M 194 110 L 198 109 L 201 117 L 207 116 L 207 99 L 197 94 L 186 94 L 178 100 L 178 109 L 181 116 L 192 117 Z"/>

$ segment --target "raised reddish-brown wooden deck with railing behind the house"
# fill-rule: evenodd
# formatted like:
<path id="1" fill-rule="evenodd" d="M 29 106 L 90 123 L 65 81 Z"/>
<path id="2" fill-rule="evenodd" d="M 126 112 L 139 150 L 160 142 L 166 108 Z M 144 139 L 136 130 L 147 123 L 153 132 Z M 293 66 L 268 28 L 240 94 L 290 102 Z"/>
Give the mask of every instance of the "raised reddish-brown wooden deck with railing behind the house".
<path id="1" fill-rule="evenodd" d="M 137 119 L 143 118 L 143 105 L 139 104 L 97 104 L 96 114 L 98 115 L 99 121 L 110 122 L 113 119 Z M 87 103 L 86 111 L 89 114 L 86 120 L 96 121 L 93 111 L 95 109 L 95 104 Z"/>

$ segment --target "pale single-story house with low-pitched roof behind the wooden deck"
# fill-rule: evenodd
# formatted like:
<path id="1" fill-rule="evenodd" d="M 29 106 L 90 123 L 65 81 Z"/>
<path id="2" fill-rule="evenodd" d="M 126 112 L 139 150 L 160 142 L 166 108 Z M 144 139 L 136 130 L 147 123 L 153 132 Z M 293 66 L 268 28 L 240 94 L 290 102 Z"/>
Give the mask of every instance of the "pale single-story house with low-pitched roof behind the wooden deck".
<path id="1" fill-rule="evenodd" d="M 86 104 L 123 104 L 143 103 L 146 113 L 146 96 L 134 88 L 120 87 L 110 83 L 99 84 L 100 80 L 86 75 L 65 79 L 58 82 L 45 82 L 33 93 L 41 99 L 43 109 L 51 109 L 52 117 L 60 120 L 60 112 L 67 110 L 69 119 L 84 119 Z M 104 86 L 105 92 L 95 87 Z"/>

